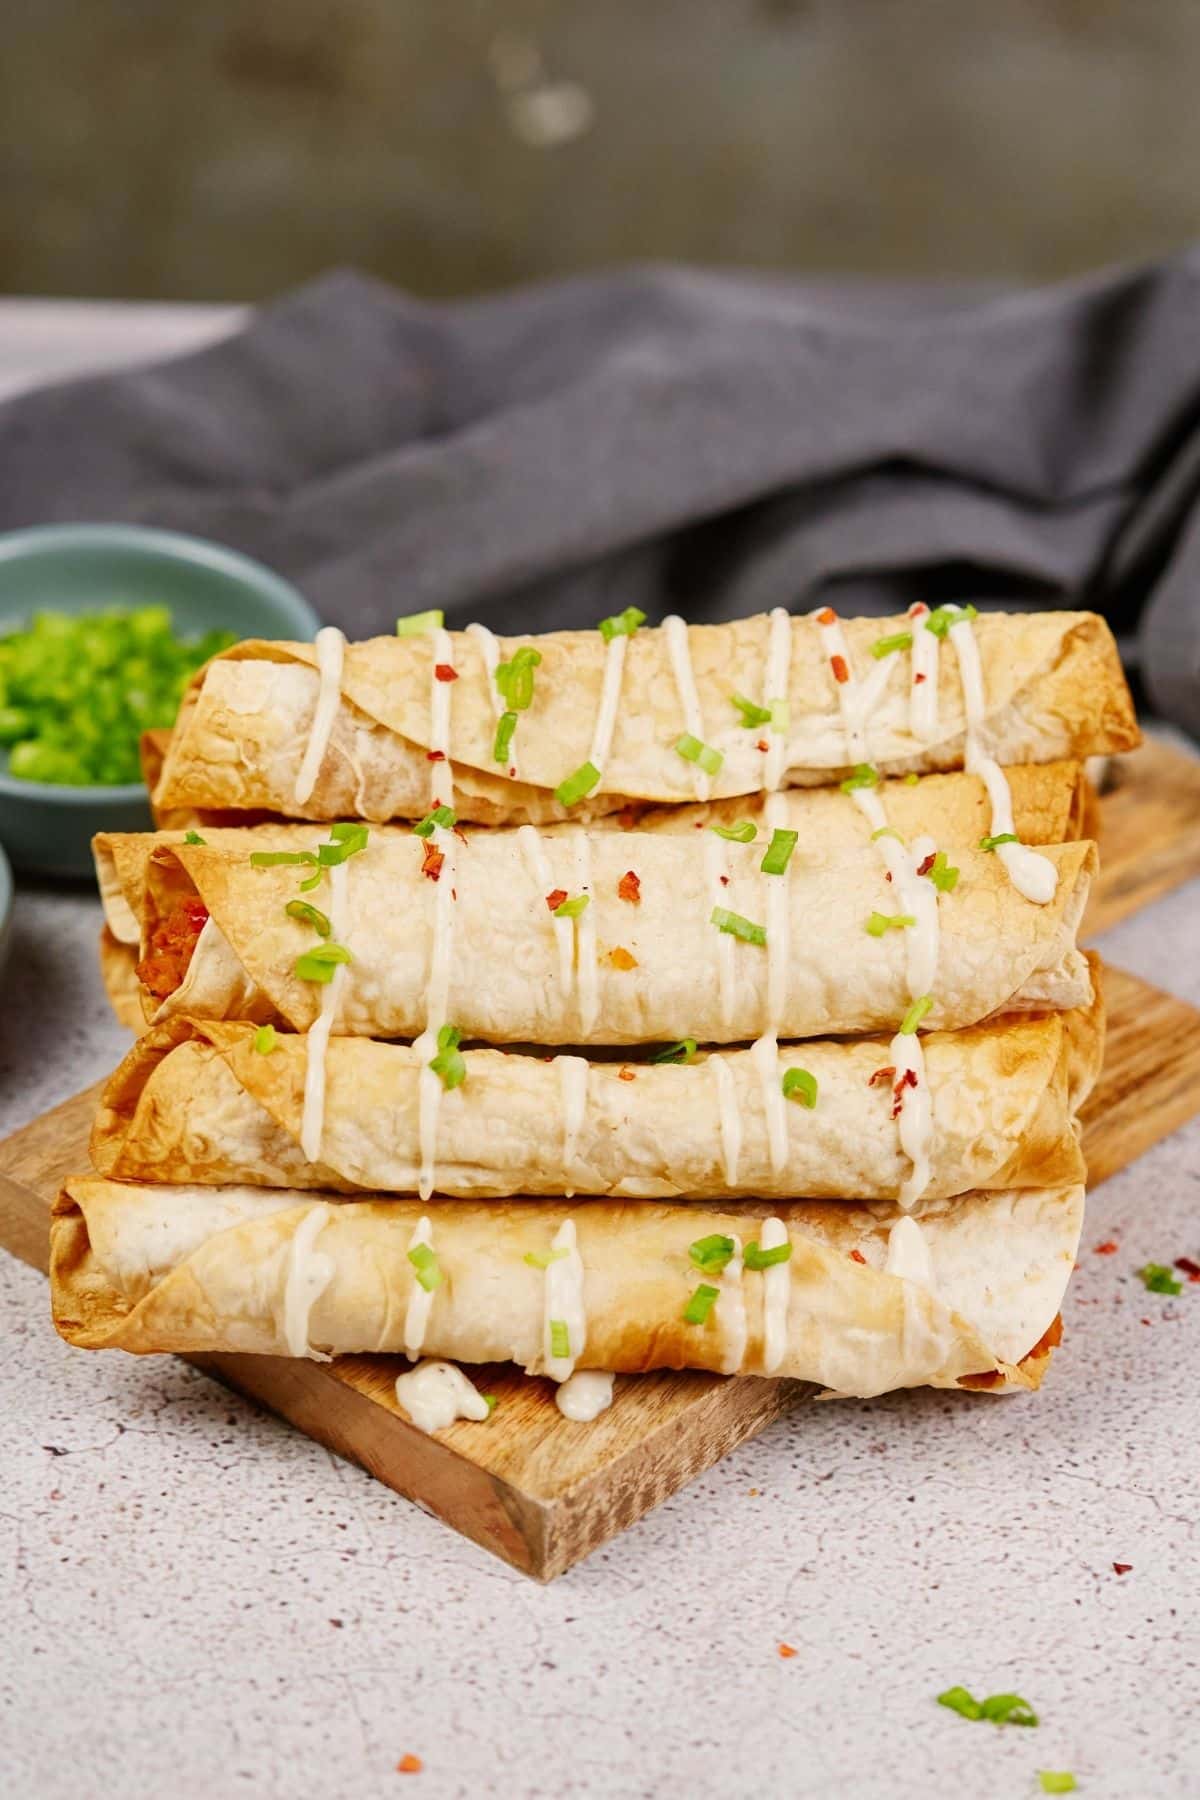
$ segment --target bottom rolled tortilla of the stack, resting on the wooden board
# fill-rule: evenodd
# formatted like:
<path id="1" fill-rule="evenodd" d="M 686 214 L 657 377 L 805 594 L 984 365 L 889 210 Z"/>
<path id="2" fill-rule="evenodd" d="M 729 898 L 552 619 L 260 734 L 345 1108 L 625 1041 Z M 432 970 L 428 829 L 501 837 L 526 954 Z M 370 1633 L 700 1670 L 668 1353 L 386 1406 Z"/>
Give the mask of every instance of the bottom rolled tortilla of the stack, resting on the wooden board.
<path id="1" fill-rule="evenodd" d="M 765 1213 L 651 1201 L 419 1208 L 81 1177 L 50 1224 L 54 1323 L 90 1350 L 407 1350 L 554 1379 L 576 1364 L 772 1373 L 844 1395 L 1038 1384 L 1083 1188 L 936 1201 L 919 1224 L 887 1204 L 784 1204 L 774 1217 L 786 1262 L 696 1265 L 691 1246 L 703 1253 L 705 1238 L 766 1247 Z M 889 1251 L 909 1273 L 887 1273 Z M 707 1316 L 689 1323 L 700 1287 L 712 1291 Z"/>

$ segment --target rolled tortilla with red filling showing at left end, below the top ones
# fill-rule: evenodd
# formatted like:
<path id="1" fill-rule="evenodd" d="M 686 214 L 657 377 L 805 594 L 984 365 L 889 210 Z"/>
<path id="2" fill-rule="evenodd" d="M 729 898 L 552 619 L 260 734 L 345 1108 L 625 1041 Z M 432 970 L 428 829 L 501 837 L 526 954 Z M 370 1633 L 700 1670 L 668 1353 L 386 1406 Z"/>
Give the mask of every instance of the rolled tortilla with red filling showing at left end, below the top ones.
<path id="1" fill-rule="evenodd" d="M 443 1017 L 493 1044 L 736 1044 L 768 1028 L 784 1039 L 824 1037 L 894 1030 L 909 1010 L 907 929 L 865 929 L 873 913 L 898 911 L 874 848 L 797 850 L 775 877 L 761 873 L 761 844 L 711 833 L 702 846 L 579 830 L 538 841 L 536 855 L 520 832 L 479 832 L 466 842 L 444 833 L 446 860 L 430 880 L 428 842 L 369 842 L 342 866 L 336 907 L 329 880 L 308 895 L 336 911 L 333 936 L 353 958 L 335 995 L 335 1035 L 416 1037 L 434 974 L 444 981 Z M 1038 855 L 1058 873 L 1045 905 L 1015 893 L 995 855 L 950 851 L 959 882 L 937 896 L 928 1030 L 1090 999 L 1074 938 L 1096 846 Z M 148 943 L 196 896 L 207 913 L 182 983 L 171 992 L 158 985 L 158 1021 L 313 1024 L 326 990 L 295 974 L 318 943 L 309 923 L 286 913 L 297 873 L 252 868 L 245 853 L 207 844 L 155 851 Z M 630 873 L 637 900 L 622 898 Z M 554 918 L 549 898 L 583 893 L 590 900 L 576 920 Z M 756 925 L 770 916 L 774 936 L 739 941 L 712 923 L 714 907 Z M 155 1012 L 149 995 L 148 1006 Z"/>

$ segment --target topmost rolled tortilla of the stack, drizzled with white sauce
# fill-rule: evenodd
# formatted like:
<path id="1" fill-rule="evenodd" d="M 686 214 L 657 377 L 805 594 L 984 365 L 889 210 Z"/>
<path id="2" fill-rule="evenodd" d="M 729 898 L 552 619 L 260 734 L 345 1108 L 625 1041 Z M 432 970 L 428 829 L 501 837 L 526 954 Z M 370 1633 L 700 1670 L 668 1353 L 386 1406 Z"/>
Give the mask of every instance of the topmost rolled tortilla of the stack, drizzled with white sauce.
<path id="1" fill-rule="evenodd" d="M 542 657 L 533 702 L 518 715 L 500 765 L 493 752 L 502 702 L 484 637 L 374 637 L 327 659 L 324 677 L 313 644 L 248 641 L 209 662 L 189 689 L 155 806 L 162 814 L 200 806 L 308 819 L 412 819 L 426 812 L 435 774 L 437 796 L 461 819 L 545 823 L 565 815 L 554 790 L 585 763 L 599 776 L 576 806 L 578 817 L 630 801 L 820 787 L 864 760 L 883 774 L 963 767 L 966 716 L 955 653 L 946 646 L 934 652 L 928 675 L 910 668 L 907 650 L 880 661 L 871 653 L 882 637 L 912 626 L 909 617 L 842 621 L 842 679 L 856 684 L 864 707 L 869 700 L 862 742 L 847 725 L 828 635 L 811 617 L 779 612 L 727 625 L 675 621 L 612 643 L 599 632 L 491 641 L 498 657 L 529 643 Z M 1137 743 L 1132 700 L 1103 619 L 997 612 L 973 630 L 984 754 L 1034 763 Z M 936 716 L 921 734 L 910 715 L 918 675 L 930 684 L 927 693 L 937 695 Z M 761 709 L 775 704 L 775 722 L 743 725 L 734 695 Z M 682 738 L 720 754 L 711 785 L 705 769 L 676 751 Z M 311 760 L 313 749 L 318 761 L 309 787 L 306 756 Z M 432 770 L 430 758 L 441 767 Z"/>

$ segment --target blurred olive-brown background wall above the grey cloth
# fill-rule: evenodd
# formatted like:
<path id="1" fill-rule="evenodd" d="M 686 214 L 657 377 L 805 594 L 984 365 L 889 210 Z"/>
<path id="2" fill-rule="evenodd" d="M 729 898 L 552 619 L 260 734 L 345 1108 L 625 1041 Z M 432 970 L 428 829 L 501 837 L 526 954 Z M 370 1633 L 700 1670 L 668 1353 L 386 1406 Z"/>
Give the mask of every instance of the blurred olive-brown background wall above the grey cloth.
<path id="1" fill-rule="evenodd" d="M 1196 0 L 2 0 L 0 290 L 639 257 L 1031 277 L 1200 227 Z"/>

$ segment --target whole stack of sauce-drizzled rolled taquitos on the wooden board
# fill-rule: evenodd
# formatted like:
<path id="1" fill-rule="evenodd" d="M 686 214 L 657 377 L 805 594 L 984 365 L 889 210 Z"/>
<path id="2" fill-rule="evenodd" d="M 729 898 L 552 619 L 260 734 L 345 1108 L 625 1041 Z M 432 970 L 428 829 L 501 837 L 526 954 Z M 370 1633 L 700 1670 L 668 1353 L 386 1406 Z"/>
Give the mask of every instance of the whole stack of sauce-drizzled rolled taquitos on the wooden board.
<path id="1" fill-rule="evenodd" d="M 209 666 L 178 828 L 97 841 L 148 1030 L 56 1211 L 65 1336 L 513 1357 L 569 1417 L 660 1366 L 1036 1386 L 1103 1037 L 1052 758 L 1135 742 L 1105 626 L 640 623 Z"/>

